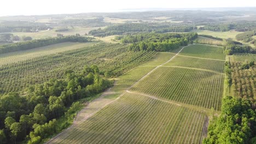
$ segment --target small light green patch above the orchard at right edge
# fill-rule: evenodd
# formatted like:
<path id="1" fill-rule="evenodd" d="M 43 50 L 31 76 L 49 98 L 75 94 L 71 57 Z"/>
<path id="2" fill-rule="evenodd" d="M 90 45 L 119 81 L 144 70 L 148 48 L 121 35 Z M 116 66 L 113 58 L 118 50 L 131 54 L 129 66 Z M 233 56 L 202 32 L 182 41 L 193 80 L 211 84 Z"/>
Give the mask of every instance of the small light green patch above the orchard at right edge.
<path id="1" fill-rule="evenodd" d="M 234 55 L 229 56 L 230 61 L 237 62 L 250 62 L 256 61 L 256 54 L 253 53 L 235 53 Z"/>

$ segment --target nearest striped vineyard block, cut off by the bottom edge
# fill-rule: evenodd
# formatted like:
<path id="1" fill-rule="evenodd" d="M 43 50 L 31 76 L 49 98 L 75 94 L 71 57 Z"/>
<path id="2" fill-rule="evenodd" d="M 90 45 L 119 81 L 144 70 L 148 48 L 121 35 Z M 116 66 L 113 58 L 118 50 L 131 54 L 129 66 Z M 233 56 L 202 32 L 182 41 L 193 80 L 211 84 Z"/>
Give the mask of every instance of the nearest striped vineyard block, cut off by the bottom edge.
<path id="1" fill-rule="evenodd" d="M 51 143 L 200 143 L 204 121 L 202 112 L 126 93 Z"/>

